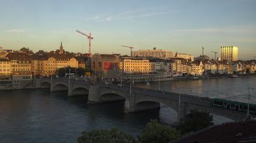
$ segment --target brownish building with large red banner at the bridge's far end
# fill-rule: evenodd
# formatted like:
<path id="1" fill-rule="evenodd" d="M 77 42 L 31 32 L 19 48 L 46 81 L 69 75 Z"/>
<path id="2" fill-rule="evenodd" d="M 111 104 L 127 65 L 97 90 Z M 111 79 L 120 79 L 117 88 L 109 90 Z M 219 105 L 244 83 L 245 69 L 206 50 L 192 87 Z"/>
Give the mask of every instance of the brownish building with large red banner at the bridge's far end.
<path id="1" fill-rule="evenodd" d="M 91 69 L 95 71 L 96 78 L 119 78 L 119 54 L 95 54 L 91 61 Z"/>

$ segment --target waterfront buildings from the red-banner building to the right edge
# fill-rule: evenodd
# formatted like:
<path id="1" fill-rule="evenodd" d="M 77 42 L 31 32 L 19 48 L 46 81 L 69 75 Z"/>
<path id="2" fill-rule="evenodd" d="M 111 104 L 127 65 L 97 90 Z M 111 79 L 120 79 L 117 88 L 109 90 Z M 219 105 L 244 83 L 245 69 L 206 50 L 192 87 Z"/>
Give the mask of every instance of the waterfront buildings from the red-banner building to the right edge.
<path id="1" fill-rule="evenodd" d="M 255 73 L 255 61 L 190 61 L 183 58 L 93 55 L 92 69 L 99 78 L 148 80 L 174 76 L 207 74 Z"/>

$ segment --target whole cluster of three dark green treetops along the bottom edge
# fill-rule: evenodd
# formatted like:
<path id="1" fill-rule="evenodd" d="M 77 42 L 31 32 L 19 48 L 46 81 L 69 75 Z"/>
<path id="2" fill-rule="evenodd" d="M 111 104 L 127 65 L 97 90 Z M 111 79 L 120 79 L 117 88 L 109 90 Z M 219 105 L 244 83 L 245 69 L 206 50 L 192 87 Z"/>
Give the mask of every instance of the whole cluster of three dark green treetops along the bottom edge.
<path id="1" fill-rule="evenodd" d="M 180 138 L 193 131 L 201 130 L 202 128 L 213 125 L 213 117 L 206 111 L 191 110 L 190 114 L 185 116 L 185 119 L 179 122 L 176 128 L 163 125 L 157 120 L 151 120 L 146 124 L 141 135 L 137 140 L 133 136 L 119 131 L 116 128 L 111 130 L 93 130 L 83 131 L 82 136 L 77 138 L 78 143 L 167 143 Z"/>

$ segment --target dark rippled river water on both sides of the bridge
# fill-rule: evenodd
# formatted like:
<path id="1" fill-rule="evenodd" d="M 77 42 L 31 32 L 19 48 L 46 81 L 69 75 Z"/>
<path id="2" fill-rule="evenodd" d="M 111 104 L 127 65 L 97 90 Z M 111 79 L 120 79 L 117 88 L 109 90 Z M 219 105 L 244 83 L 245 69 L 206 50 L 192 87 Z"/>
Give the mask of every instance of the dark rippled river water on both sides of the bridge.
<path id="1" fill-rule="evenodd" d="M 180 85 L 180 86 L 179 86 Z M 135 85 L 133 85 L 135 86 Z M 144 88 L 158 88 L 158 82 L 137 83 Z M 248 87 L 256 90 L 256 77 L 196 81 L 163 81 L 166 91 L 191 93 L 247 101 Z M 255 103 L 255 90 L 250 102 Z M 227 94 L 228 93 L 228 94 Z M 166 105 L 160 110 L 128 113 L 127 102 L 86 104 L 87 96 L 67 97 L 67 92 L 49 89 L 0 91 L 0 142 L 76 142 L 83 130 L 116 127 L 137 136 L 150 119 L 165 124 L 177 121 L 177 113 Z M 215 124 L 230 119 L 214 116 Z"/>

